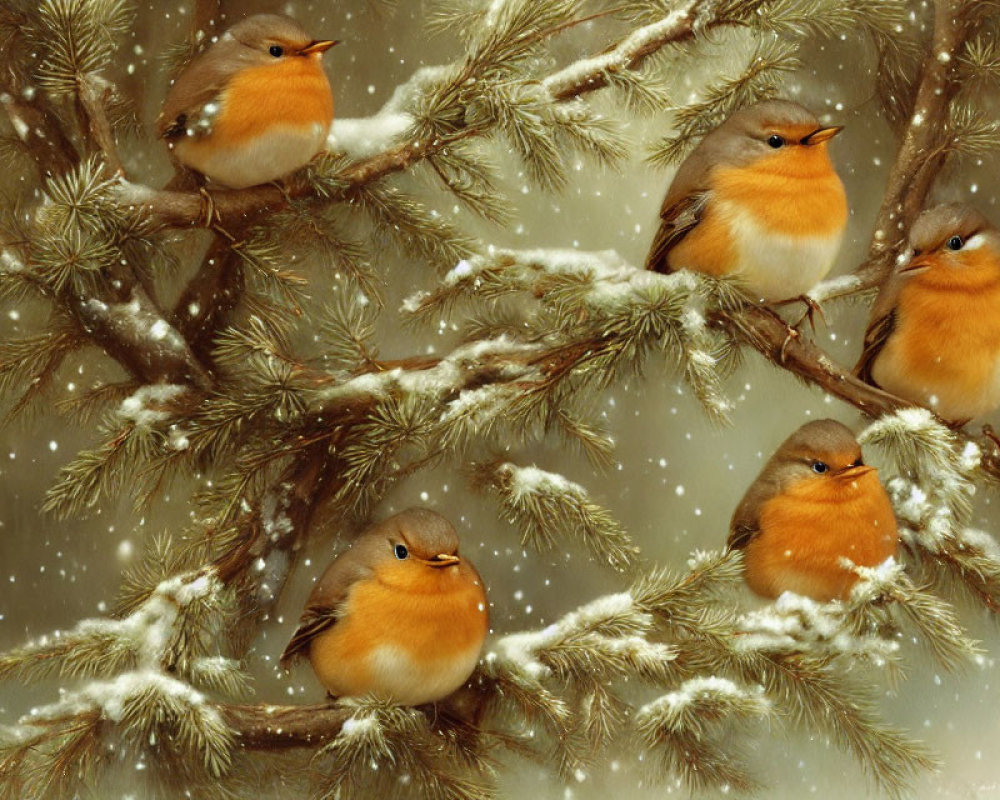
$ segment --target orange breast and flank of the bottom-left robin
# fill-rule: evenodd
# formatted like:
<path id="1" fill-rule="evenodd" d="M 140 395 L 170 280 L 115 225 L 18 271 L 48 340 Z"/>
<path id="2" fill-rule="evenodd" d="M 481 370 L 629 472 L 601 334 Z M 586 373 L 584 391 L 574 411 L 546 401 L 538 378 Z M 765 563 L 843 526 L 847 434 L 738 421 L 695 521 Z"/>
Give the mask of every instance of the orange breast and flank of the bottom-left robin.
<path id="1" fill-rule="evenodd" d="M 475 572 L 391 564 L 355 584 L 344 615 L 313 640 L 310 660 L 334 694 L 379 691 L 369 656 L 399 648 L 418 666 L 447 663 L 478 651 L 489 628 L 486 593 Z"/>

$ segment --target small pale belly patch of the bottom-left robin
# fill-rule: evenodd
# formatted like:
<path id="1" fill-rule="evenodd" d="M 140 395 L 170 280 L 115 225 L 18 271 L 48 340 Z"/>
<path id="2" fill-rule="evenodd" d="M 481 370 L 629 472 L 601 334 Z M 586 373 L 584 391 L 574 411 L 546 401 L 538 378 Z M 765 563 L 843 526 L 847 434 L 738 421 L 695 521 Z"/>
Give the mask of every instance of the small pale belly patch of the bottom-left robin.
<path id="1" fill-rule="evenodd" d="M 401 647 L 377 647 L 368 656 L 375 693 L 407 706 L 441 700 L 469 679 L 479 662 L 480 647 L 420 666 Z"/>

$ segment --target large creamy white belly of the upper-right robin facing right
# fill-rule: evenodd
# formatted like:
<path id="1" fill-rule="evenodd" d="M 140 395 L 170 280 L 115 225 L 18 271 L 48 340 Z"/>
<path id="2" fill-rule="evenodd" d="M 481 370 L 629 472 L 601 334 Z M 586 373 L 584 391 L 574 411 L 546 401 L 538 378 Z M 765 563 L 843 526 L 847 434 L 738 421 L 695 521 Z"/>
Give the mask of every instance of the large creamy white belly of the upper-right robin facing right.
<path id="1" fill-rule="evenodd" d="M 765 231 L 736 209 L 726 214 L 739 277 L 756 299 L 773 303 L 803 295 L 833 266 L 843 229 L 828 236 L 786 236 Z"/>

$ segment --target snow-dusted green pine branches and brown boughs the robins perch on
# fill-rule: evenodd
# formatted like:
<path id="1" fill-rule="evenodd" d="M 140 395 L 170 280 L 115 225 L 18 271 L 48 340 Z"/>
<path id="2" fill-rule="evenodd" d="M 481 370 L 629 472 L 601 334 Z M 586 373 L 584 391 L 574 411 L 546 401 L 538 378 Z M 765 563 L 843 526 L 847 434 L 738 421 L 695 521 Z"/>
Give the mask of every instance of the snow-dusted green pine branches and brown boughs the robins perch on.
<path id="1" fill-rule="evenodd" d="M 486 798 L 505 752 L 568 780 L 640 753 L 650 781 L 751 790 L 760 776 L 740 742 L 762 722 L 818 732 L 887 794 L 904 792 L 934 757 L 880 719 L 872 687 L 899 680 L 911 639 L 947 669 L 978 657 L 949 598 L 968 593 L 1000 611 L 1000 552 L 971 526 L 975 487 L 1000 474 L 995 446 L 858 384 L 725 283 L 649 274 L 614 253 L 490 248 L 392 178 L 426 172 L 470 215 L 503 220 L 491 142 L 513 151 L 532 185 L 559 191 L 573 158 L 614 165 L 632 155 L 628 115 L 671 106 L 663 55 L 684 63 L 709 36 L 747 46 L 745 69 L 672 107 L 675 134 L 652 155 L 676 161 L 734 108 L 776 93 L 804 42 L 855 36 L 879 60 L 875 88 L 903 142 L 870 260 L 816 290 L 856 295 L 891 263 L 899 241 L 889 232 L 905 235 L 945 157 L 997 138 L 957 93 L 996 77 L 980 4 L 937 0 L 930 42 L 909 24 L 923 13 L 912 5 L 439 3 L 431 27 L 459 31 L 464 56 L 419 70 L 371 119 L 338 120 L 334 154 L 286 186 L 220 195 L 226 235 L 186 283 L 165 231 L 197 224 L 201 196 L 149 188 L 121 168 L 131 163 L 119 153 L 132 146 L 128 98 L 106 73 L 134 9 L 0 7 L 10 123 L 0 145 L 29 187 L 0 234 L 0 290 L 51 315 L 37 336 L 0 344 L 0 391 L 11 415 L 54 402 L 102 437 L 65 465 L 46 509 L 83 514 L 137 482 L 142 503 L 170 481 L 190 489 L 193 476 L 211 476 L 191 489 L 192 527 L 149 543 L 111 617 L 0 656 L 0 679 L 64 685 L 57 701 L 0 726 L 0 796 L 68 796 L 125 770 L 130 783 L 148 782 L 148 796 Z M 208 25 L 218 11 L 198 0 L 193 19 Z M 584 20 L 603 37 L 601 53 L 555 66 L 550 43 Z M 622 100 L 617 116 L 588 104 L 594 92 Z M 921 123 L 918 102 L 933 106 Z M 398 317 L 460 327 L 447 354 L 380 357 L 376 330 L 394 318 L 380 299 L 388 276 L 373 266 L 385 247 L 446 272 Z M 349 287 L 332 300 L 315 288 L 331 274 Z M 165 286 L 178 297 L 172 308 L 159 299 Z M 296 319 L 316 341 L 292 336 Z M 904 558 L 859 570 L 843 603 L 786 596 L 742 609 L 737 556 L 658 570 L 584 486 L 511 460 L 554 434 L 606 465 L 613 438 L 581 398 L 654 360 L 724 423 L 721 380 L 747 344 L 884 414 L 862 439 L 895 464 Z M 94 345 L 126 377 L 61 396 L 61 366 Z M 456 459 L 525 546 L 582 545 L 623 590 L 544 630 L 498 635 L 468 686 L 437 709 L 245 704 L 254 665 L 244 658 L 312 521 L 366 518 L 399 481 Z"/>

